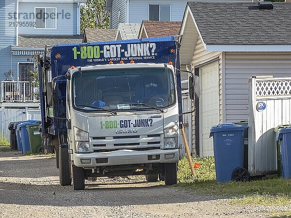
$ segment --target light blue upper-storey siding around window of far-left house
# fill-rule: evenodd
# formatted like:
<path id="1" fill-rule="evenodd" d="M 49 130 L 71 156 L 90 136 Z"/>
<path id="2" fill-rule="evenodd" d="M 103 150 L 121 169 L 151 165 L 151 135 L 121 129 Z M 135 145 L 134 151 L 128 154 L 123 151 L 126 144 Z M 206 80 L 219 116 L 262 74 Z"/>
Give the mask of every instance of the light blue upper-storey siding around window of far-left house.
<path id="1" fill-rule="evenodd" d="M 64 18 L 59 15 L 57 19 L 57 29 L 35 29 L 34 27 L 20 27 L 19 34 L 34 34 L 34 35 L 73 35 L 77 34 L 77 3 L 29 3 L 19 2 L 19 13 L 30 13 L 34 14 L 35 7 L 56 7 L 57 13 L 62 13 L 64 10 Z M 70 18 L 66 19 L 65 14 L 69 13 Z M 21 14 L 19 22 L 34 22 L 33 16 L 28 16 L 25 19 L 24 15 Z"/>

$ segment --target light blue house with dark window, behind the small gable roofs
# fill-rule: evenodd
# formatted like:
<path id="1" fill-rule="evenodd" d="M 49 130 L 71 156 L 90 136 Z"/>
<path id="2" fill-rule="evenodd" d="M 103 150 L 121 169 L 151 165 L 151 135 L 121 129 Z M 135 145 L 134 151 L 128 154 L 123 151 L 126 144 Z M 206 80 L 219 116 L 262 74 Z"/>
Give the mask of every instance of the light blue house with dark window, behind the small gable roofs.
<path id="1" fill-rule="evenodd" d="M 142 20 L 182 21 L 189 0 L 107 0 L 110 28 L 119 23 L 141 23 Z M 252 0 L 198 0 L 201 2 L 251 2 Z"/>

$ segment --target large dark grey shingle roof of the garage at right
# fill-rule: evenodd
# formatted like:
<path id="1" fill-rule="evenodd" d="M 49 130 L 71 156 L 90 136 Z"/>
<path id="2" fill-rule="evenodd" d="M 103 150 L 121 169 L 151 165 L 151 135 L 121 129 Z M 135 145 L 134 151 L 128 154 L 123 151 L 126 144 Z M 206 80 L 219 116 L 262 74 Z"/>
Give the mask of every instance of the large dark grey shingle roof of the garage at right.
<path id="1" fill-rule="evenodd" d="M 188 2 L 203 41 L 209 45 L 291 44 L 291 4 Z"/>

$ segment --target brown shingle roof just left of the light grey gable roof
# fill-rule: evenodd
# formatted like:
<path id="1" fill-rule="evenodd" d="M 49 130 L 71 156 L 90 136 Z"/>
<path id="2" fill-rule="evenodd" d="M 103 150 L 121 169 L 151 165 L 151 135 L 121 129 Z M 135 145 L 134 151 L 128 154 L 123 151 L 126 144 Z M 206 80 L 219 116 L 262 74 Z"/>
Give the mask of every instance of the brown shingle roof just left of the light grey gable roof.
<path id="1" fill-rule="evenodd" d="M 114 29 L 85 29 L 83 42 L 100 42 L 115 40 L 116 31 Z"/>

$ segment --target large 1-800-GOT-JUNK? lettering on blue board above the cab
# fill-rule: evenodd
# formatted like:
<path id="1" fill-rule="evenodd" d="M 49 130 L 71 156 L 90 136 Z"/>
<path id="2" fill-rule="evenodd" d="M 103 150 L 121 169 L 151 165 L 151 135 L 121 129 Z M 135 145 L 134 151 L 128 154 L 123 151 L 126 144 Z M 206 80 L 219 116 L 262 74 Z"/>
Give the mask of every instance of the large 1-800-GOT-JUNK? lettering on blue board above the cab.
<path id="1" fill-rule="evenodd" d="M 73 47 L 74 59 L 93 59 L 100 58 L 103 54 L 104 58 L 120 58 L 120 57 L 145 57 L 155 56 L 155 43 L 135 43 L 128 44 L 127 49 L 121 47 L 122 45 L 105 45 L 101 50 L 99 46 L 82 46 L 80 50 L 78 47 Z"/>

